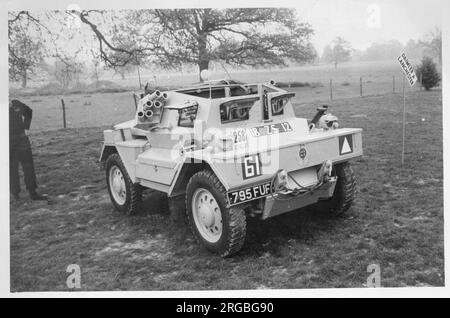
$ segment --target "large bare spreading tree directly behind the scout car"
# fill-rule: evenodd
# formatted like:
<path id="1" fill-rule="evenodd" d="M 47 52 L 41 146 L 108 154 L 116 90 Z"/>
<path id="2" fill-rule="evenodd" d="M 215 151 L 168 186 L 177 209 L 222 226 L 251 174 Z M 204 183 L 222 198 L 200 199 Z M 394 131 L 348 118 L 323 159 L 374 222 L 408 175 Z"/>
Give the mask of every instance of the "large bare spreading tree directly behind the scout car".
<path id="1" fill-rule="evenodd" d="M 211 61 L 238 65 L 286 65 L 288 60 L 311 61 L 306 23 L 292 9 L 176 9 L 127 11 L 113 27 L 114 36 L 101 31 L 99 15 L 83 11 L 107 65 L 124 66 L 136 59 L 164 68 L 194 64 L 201 72 Z"/>

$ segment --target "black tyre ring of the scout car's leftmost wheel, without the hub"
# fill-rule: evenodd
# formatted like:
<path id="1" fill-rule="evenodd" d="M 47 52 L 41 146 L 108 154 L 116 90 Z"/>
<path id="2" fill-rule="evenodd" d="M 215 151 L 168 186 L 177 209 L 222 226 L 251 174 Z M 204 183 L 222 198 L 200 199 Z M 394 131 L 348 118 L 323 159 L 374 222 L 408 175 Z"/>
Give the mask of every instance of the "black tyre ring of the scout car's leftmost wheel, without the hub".
<path id="1" fill-rule="evenodd" d="M 126 199 L 123 204 L 117 202 L 111 193 L 111 186 L 109 184 L 110 183 L 109 172 L 111 168 L 114 166 L 120 169 L 125 181 Z M 132 215 L 137 213 L 138 205 L 142 201 L 142 188 L 138 184 L 133 184 L 130 176 L 128 175 L 127 170 L 125 169 L 122 159 L 120 159 L 119 154 L 117 153 L 111 154 L 108 157 L 108 159 L 106 159 L 105 170 L 106 170 L 106 183 L 108 187 L 108 193 L 116 210 L 124 213 L 125 215 Z"/>

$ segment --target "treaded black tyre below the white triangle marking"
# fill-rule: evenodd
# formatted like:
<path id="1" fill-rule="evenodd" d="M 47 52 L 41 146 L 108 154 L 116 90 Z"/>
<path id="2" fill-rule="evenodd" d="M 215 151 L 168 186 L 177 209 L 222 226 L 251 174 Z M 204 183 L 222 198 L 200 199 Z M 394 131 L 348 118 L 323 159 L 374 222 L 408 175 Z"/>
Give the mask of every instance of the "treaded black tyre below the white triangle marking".
<path id="1" fill-rule="evenodd" d="M 356 178 L 348 162 L 334 167 L 337 176 L 333 197 L 316 203 L 316 209 L 332 217 L 343 215 L 356 197 Z"/>

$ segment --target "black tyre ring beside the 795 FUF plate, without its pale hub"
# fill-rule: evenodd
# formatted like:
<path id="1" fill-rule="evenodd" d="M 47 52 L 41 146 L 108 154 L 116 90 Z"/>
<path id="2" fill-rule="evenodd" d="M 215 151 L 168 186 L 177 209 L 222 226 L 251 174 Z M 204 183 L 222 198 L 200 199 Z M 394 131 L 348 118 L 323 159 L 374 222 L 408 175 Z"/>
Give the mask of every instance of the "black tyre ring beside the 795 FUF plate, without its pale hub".
<path id="1" fill-rule="evenodd" d="M 202 237 L 194 221 L 192 197 L 198 188 L 208 190 L 214 196 L 220 208 L 222 233 L 219 240 L 215 243 L 208 242 Z M 212 171 L 202 170 L 190 178 L 186 188 L 186 213 L 191 231 L 198 243 L 222 257 L 231 256 L 242 248 L 247 228 L 244 210 L 235 207 L 227 208 L 226 206 L 225 188 Z"/>

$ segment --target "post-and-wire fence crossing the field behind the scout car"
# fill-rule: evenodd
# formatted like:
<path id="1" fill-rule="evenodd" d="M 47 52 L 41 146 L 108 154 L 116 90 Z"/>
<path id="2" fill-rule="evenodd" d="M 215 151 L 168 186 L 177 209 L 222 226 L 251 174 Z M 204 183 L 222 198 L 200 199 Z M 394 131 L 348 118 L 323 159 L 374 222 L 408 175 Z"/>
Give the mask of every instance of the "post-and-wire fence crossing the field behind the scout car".
<path id="1" fill-rule="evenodd" d="M 279 82 L 287 91 L 295 92 L 294 105 L 326 103 L 345 98 L 364 98 L 384 94 L 401 94 L 402 74 L 322 78 L 310 82 Z M 406 84 L 406 93 L 421 89 Z M 113 125 L 134 116 L 132 91 L 121 93 L 89 93 L 66 96 L 29 96 L 25 103 L 33 109 L 33 131 Z"/>

